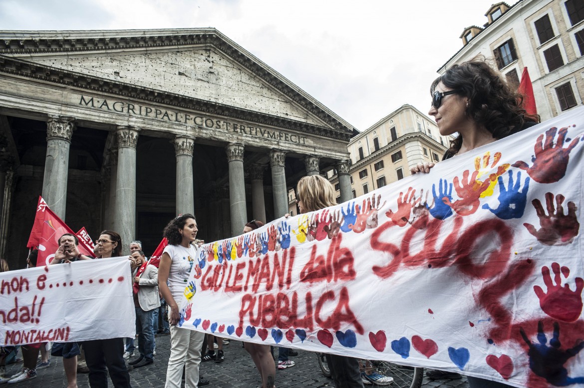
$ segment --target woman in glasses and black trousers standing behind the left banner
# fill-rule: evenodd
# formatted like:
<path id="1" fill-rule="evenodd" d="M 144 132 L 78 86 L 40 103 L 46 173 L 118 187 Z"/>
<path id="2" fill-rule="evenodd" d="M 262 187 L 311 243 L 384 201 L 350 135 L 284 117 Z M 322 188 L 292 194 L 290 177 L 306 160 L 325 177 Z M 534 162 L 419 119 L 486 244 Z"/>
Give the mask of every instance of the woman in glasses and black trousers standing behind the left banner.
<path id="1" fill-rule="evenodd" d="M 120 235 L 111 230 L 101 232 L 95 242 L 95 253 L 98 259 L 121 256 Z M 83 347 L 91 388 L 106 388 L 108 372 L 115 388 L 131 388 L 130 375 L 124 362 L 124 338 L 85 341 Z"/>

